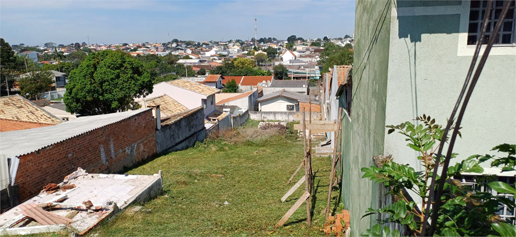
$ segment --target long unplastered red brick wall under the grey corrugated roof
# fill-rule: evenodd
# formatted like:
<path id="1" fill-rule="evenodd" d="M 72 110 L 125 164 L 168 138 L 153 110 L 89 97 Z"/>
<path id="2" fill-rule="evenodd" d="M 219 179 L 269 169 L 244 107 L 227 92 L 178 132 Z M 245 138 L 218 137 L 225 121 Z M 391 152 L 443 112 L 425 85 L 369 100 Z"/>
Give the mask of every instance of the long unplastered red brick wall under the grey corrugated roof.
<path id="1" fill-rule="evenodd" d="M 19 157 L 20 199 L 60 183 L 78 167 L 88 173 L 115 173 L 155 153 L 155 122 L 148 110 Z"/>

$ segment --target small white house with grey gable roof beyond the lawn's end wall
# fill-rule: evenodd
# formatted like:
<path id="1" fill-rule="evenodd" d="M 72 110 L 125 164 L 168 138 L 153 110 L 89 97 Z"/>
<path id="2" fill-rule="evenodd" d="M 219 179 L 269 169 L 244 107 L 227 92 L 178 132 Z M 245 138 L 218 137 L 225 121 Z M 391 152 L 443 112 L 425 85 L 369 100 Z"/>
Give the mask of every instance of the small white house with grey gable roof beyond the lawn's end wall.
<path id="1" fill-rule="evenodd" d="M 319 101 L 315 97 L 285 89 L 264 95 L 256 101 L 259 111 L 264 112 L 299 112 L 302 108 L 309 111 L 310 106 L 312 106 L 312 112 L 320 112 Z"/>

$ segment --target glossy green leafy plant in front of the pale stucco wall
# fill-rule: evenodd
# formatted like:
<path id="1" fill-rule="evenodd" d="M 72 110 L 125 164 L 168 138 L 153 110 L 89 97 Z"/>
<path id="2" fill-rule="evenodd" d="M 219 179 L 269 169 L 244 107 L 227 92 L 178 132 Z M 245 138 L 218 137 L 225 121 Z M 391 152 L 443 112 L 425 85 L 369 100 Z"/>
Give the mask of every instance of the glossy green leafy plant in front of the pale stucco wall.
<path id="1" fill-rule="evenodd" d="M 408 228 L 411 235 L 420 236 L 422 233 L 422 223 L 424 221 L 425 208 L 430 208 L 428 204 L 428 193 L 430 191 L 429 178 L 432 176 L 432 170 L 435 166 L 436 152 L 441 142 L 446 142 L 447 138 L 443 138 L 443 126 L 436 124 L 435 119 L 430 116 L 423 115 L 415 119 L 420 124 L 405 122 L 399 125 L 389 125 L 388 133 L 391 134 L 398 131 L 406 137 L 407 146 L 418 152 L 417 159 L 423 171 L 416 172 L 414 168 L 408 165 L 401 165 L 394 161 L 384 162 L 382 167 L 372 166 L 362 168 L 364 175 L 362 178 L 381 183 L 388 188 L 389 194 L 393 195 L 394 203 L 378 209 L 369 208 L 364 215 L 384 214 L 386 216 L 379 220 L 379 224 L 374 225 L 371 229 L 362 232 L 363 236 L 388 236 L 396 235 L 397 232 L 391 232 L 389 228 L 383 228 L 382 224 L 397 223 Z M 460 136 L 460 132 L 459 132 Z M 491 165 L 510 166 L 513 162 L 514 147 L 503 144 L 495 147 L 493 150 L 509 153 L 507 158 L 497 158 Z M 456 157 L 453 154 L 452 157 Z M 512 157 L 512 158 L 511 158 Z M 455 180 L 454 176 L 460 176 L 461 173 L 482 173 L 483 168 L 479 163 L 489 160 L 493 156 L 470 156 L 453 166 L 448 167 L 444 190 L 445 193 L 441 198 L 443 203 L 439 209 L 438 226 L 436 235 L 442 236 L 487 236 L 512 234 L 512 225 L 505 223 L 502 218 L 497 216 L 498 206 L 506 205 L 514 210 L 514 201 L 504 195 L 492 195 L 488 192 L 479 192 L 473 190 L 469 186 L 464 186 L 460 181 Z M 443 159 L 443 157 L 440 157 Z M 512 161 L 511 161 L 512 159 Z M 441 164 L 442 162 L 440 162 Z M 512 165 L 512 167 L 514 167 Z M 508 169 L 505 169 L 508 170 Z M 486 185 L 485 185 L 486 186 Z M 493 181 L 487 184 L 487 187 L 500 193 L 514 194 L 514 188 L 503 182 Z M 416 203 L 412 200 L 409 192 L 420 196 L 422 200 L 421 210 L 417 208 Z M 506 226 L 508 225 L 508 226 Z M 510 235 L 514 236 L 514 235 Z"/>

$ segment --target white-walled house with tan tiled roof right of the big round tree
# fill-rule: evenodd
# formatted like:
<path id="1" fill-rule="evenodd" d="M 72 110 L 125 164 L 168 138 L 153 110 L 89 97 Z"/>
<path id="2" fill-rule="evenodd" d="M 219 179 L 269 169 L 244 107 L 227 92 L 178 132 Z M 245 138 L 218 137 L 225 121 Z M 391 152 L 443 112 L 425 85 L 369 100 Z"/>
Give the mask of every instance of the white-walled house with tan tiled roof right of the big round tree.
<path id="1" fill-rule="evenodd" d="M 147 98 L 168 95 L 187 107 L 188 110 L 202 106 L 204 114 L 207 116 L 215 111 L 215 94 L 217 93 L 220 93 L 219 89 L 185 79 L 176 79 L 154 84 L 153 92 Z M 137 102 L 143 99 L 135 98 Z"/>

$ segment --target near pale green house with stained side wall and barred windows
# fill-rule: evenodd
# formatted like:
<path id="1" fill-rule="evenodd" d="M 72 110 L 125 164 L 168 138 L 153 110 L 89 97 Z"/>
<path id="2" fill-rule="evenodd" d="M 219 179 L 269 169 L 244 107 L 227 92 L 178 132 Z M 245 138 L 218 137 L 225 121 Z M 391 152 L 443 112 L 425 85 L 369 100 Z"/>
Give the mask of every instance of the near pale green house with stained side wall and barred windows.
<path id="1" fill-rule="evenodd" d="M 424 114 L 437 124 L 446 124 L 475 53 L 481 14 L 487 5 L 483 3 L 487 2 L 357 1 L 355 65 L 347 82 L 352 85 L 347 92 L 330 95 L 348 107 L 345 111 L 350 110 L 342 117 L 341 195 L 351 213 L 351 235 L 376 223 L 375 215 L 362 218 L 368 208 L 389 204 L 380 193 L 382 187 L 361 178 L 362 167 L 374 166 L 372 157 L 392 155 L 394 162 L 422 171 L 421 161 L 407 148 L 405 137 L 388 135 L 385 125 L 416 122 L 416 116 Z M 492 2 L 493 12 L 501 11 L 498 3 Z M 498 144 L 516 144 L 516 116 L 508 109 L 516 107 L 514 9 L 512 2 L 471 95 L 460 125 L 462 138 L 453 150 L 459 155 L 450 166 L 470 155 L 493 154 L 490 151 Z M 491 14 L 491 21 L 498 15 Z M 368 21 L 362 21 L 365 17 Z M 480 55 L 484 49 L 485 45 Z M 490 168 L 490 162 L 482 166 L 485 173 L 514 185 L 516 172 L 501 173 L 501 168 Z M 411 196 L 421 203 L 417 195 Z M 506 219 L 514 216 L 506 208 L 499 213 Z"/>

